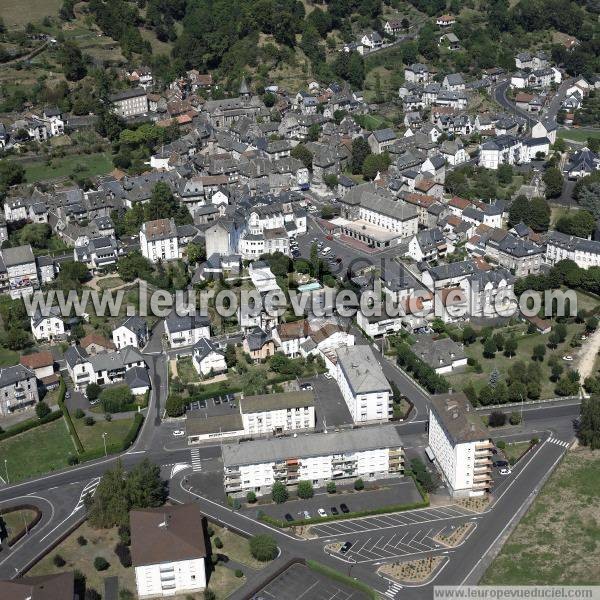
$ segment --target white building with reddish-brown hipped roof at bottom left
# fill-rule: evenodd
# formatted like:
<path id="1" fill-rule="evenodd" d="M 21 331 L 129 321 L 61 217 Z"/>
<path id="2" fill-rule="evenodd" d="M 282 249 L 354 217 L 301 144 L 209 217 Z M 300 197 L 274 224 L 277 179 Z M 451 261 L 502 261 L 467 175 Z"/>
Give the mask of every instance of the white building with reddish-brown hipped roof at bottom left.
<path id="1" fill-rule="evenodd" d="M 137 509 L 129 518 L 138 598 L 165 598 L 206 588 L 205 536 L 197 506 Z"/>

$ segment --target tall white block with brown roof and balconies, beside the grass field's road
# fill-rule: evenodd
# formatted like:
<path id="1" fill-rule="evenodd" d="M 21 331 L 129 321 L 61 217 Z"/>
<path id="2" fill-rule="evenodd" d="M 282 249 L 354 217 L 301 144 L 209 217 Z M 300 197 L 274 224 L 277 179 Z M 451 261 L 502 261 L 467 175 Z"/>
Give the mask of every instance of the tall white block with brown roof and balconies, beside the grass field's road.
<path id="1" fill-rule="evenodd" d="M 492 447 L 481 418 L 464 394 L 431 397 L 429 448 L 453 496 L 490 491 Z"/>

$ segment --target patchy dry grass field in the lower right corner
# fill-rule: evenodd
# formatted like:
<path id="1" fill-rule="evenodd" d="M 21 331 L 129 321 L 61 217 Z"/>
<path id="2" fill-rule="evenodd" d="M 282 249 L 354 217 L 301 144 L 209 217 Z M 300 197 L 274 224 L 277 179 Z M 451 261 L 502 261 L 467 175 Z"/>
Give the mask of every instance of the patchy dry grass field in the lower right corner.
<path id="1" fill-rule="evenodd" d="M 600 584 L 600 452 L 566 455 L 481 581 Z"/>

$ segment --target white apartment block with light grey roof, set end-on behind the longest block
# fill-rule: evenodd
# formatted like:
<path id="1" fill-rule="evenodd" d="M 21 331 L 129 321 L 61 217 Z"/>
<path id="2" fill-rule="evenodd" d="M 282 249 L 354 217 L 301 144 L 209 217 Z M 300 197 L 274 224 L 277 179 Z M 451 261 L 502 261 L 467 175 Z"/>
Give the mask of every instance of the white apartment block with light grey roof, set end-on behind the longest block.
<path id="1" fill-rule="evenodd" d="M 390 384 L 371 348 L 338 348 L 336 357 L 335 376 L 354 422 L 388 421 L 393 414 Z"/>

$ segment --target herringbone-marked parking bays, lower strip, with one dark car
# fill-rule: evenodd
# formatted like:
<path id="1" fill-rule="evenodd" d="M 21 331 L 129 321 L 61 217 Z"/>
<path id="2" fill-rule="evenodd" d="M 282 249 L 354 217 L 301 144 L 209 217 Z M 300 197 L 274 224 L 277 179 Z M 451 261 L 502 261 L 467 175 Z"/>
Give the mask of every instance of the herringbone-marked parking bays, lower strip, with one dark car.
<path id="1" fill-rule="evenodd" d="M 432 527 L 421 527 L 402 529 L 400 531 L 388 532 L 383 535 L 374 533 L 372 536 L 353 540 L 350 549 L 342 554 L 332 553 L 332 556 L 347 562 L 361 563 L 379 560 L 389 560 L 411 554 L 421 554 L 435 550 L 445 549 L 446 546 L 437 542 L 434 538 L 438 535 L 449 534 L 454 525 Z"/>

